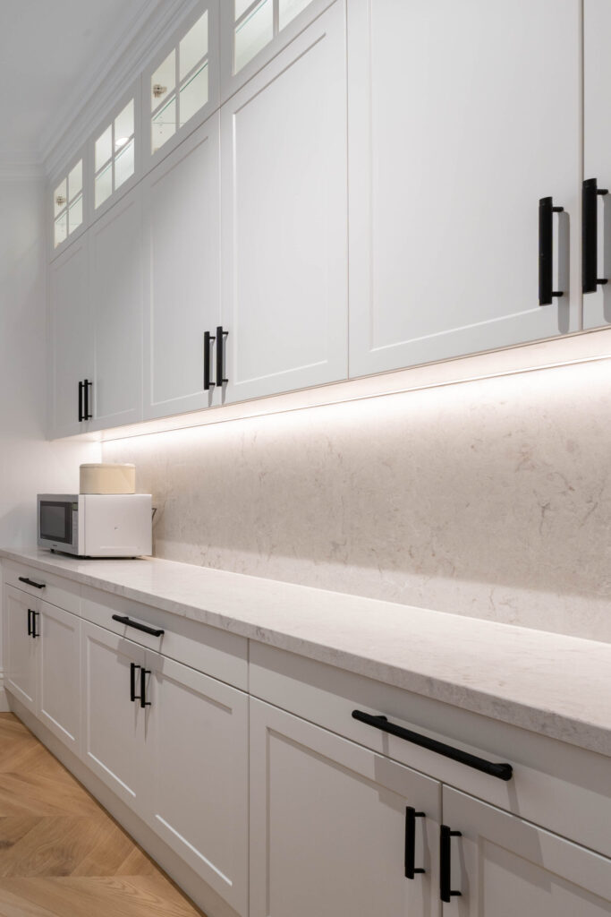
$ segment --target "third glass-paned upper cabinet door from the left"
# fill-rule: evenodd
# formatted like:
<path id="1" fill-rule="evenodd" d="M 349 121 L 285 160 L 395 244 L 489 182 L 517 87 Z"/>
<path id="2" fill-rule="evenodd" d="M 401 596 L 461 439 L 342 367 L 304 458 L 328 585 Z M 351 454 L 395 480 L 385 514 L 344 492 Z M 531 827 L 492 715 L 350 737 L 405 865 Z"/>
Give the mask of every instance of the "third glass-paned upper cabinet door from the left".
<path id="1" fill-rule="evenodd" d="M 212 10 L 200 7 L 196 15 L 175 36 L 147 80 L 152 155 L 201 113 L 213 95 Z"/>

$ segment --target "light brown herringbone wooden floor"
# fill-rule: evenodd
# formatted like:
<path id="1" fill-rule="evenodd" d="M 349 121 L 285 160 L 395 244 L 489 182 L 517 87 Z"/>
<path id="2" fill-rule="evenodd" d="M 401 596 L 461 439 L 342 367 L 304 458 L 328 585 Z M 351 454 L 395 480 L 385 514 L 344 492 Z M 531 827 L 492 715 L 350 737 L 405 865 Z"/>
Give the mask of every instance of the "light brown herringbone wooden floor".
<path id="1" fill-rule="evenodd" d="M 0 915 L 202 915 L 11 713 L 0 713 Z"/>

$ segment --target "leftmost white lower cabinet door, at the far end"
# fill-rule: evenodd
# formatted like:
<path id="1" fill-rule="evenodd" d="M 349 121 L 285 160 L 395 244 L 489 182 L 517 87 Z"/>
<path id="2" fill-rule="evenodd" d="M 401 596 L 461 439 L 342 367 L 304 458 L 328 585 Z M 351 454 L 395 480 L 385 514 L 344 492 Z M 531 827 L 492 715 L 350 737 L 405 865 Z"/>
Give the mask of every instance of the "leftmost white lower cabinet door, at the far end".
<path id="1" fill-rule="evenodd" d="M 32 638 L 32 614 L 36 633 L 39 627 L 38 602 L 25 592 L 7 586 L 5 589 L 4 638 L 6 690 L 36 712 L 38 695 L 38 643 Z"/>

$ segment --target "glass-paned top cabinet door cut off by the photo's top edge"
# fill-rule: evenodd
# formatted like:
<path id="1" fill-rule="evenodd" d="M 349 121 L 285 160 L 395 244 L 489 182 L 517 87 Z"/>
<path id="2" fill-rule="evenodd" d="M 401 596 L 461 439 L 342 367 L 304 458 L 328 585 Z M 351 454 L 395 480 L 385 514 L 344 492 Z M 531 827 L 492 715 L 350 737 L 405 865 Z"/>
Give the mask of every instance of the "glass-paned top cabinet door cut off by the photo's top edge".
<path id="1" fill-rule="evenodd" d="M 333 0 L 223 0 L 221 101 L 233 95 Z"/>

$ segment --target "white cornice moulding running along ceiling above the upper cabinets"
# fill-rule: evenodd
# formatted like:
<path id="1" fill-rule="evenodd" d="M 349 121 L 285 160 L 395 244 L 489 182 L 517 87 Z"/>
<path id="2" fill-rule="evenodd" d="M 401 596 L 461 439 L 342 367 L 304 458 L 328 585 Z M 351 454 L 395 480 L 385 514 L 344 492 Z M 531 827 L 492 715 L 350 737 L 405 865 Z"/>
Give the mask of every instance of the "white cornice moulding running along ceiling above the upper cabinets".
<path id="1" fill-rule="evenodd" d="M 75 151 L 82 148 L 115 100 L 136 80 L 149 57 L 197 0 L 148 0 L 144 12 L 133 17 L 110 50 L 75 85 L 53 122 L 40 138 L 39 159 L 51 177 Z"/>

